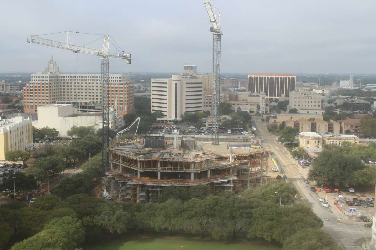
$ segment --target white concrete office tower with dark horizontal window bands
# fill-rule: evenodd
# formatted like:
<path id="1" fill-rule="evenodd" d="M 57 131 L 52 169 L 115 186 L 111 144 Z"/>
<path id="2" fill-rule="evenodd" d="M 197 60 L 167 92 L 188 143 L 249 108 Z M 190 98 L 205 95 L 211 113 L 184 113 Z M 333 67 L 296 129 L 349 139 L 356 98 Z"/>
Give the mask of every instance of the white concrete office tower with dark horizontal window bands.
<path id="1" fill-rule="evenodd" d="M 160 121 L 181 120 L 185 112 L 202 112 L 202 79 L 195 75 L 173 75 L 151 79 L 151 111 L 162 112 Z"/>

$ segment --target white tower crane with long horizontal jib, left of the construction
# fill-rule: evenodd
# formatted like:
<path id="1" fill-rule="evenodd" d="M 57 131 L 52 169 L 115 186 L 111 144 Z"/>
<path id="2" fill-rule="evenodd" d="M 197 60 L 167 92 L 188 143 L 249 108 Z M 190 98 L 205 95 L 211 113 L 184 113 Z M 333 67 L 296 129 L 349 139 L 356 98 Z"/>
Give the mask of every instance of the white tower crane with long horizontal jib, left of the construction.
<path id="1" fill-rule="evenodd" d="M 65 32 L 65 31 L 64 31 Z M 69 31 L 67 32 L 67 36 L 69 37 Z M 62 32 L 57 32 L 62 33 Z M 80 32 L 74 32 L 74 33 L 80 33 Z M 88 34 L 88 33 L 85 33 Z M 98 35 L 98 34 L 92 34 L 92 35 Z M 97 39 L 98 40 L 98 39 Z M 96 41 L 96 40 L 95 40 Z M 44 46 L 50 46 L 55 47 L 58 49 L 65 49 L 70 50 L 73 53 L 86 53 L 90 55 L 96 55 L 102 57 L 102 172 L 103 174 L 108 171 L 109 167 L 109 156 L 107 152 L 107 148 L 109 146 L 109 79 L 108 79 L 108 58 L 120 58 L 120 59 L 126 59 L 127 64 L 130 64 L 130 54 L 124 53 L 123 50 L 120 50 L 121 53 L 109 53 L 109 42 L 110 42 L 110 36 L 109 35 L 103 35 L 103 47 L 102 50 L 97 49 L 90 49 L 85 46 L 77 46 L 71 43 L 62 43 L 59 41 L 49 40 L 42 38 L 38 35 L 30 35 L 29 38 L 27 38 L 28 43 L 34 43 L 34 44 L 40 44 Z"/>

